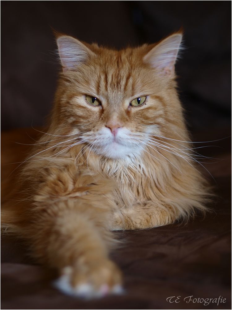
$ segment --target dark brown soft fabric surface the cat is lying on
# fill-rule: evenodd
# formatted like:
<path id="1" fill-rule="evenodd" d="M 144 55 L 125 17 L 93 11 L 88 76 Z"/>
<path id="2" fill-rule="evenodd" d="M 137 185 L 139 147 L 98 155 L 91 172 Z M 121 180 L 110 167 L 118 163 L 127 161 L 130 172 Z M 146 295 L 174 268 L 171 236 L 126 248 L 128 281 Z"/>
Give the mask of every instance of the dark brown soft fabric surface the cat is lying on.
<path id="1" fill-rule="evenodd" d="M 9 174 L 28 153 L 38 132 L 32 129 L 2 134 L 2 199 L 14 187 Z M 202 137 L 202 135 L 201 135 Z M 214 213 L 187 225 L 117 232 L 122 246 L 112 258 L 124 273 L 125 292 L 120 296 L 84 301 L 63 295 L 52 285 L 54 277 L 33 263 L 17 238 L 2 237 L 2 309 L 231 309 L 230 298 L 230 153 L 225 147 L 212 152 L 222 161 L 208 164 L 206 172 L 217 196 Z M 209 149 L 209 148 L 207 148 Z M 175 296 L 175 298 L 168 299 Z M 190 297 L 192 296 L 192 297 Z M 207 305 L 207 298 L 213 299 Z M 217 300 L 215 300 L 217 298 Z M 219 298 L 219 300 L 218 300 Z M 204 305 L 206 302 L 206 305 Z"/>

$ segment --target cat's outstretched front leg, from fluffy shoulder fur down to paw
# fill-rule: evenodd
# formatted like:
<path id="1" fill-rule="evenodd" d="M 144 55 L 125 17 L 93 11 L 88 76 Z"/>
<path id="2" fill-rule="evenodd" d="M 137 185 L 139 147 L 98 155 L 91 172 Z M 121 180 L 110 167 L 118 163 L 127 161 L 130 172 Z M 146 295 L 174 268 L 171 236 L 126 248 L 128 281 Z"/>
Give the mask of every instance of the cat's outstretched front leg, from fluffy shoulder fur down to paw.
<path id="1" fill-rule="evenodd" d="M 75 183 L 70 175 L 50 176 L 34 198 L 27 228 L 32 252 L 58 269 L 55 285 L 67 294 L 91 298 L 119 293 L 121 272 L 108 257 L 114 244 L 109 181 L 93 183 L 86 175 L 81 181 L 79 175 Z"/>

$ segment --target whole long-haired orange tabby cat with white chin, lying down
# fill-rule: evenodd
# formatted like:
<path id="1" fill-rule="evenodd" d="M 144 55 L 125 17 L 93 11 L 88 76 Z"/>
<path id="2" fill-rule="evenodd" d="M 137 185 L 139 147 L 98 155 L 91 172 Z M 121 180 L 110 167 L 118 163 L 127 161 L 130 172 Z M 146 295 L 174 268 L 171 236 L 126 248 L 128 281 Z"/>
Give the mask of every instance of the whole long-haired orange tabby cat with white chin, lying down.
<path id="1" fill-rule="evenodd" d="M 122 291 L 109 259 L 114 230 L 146 229 L 205 213 L 175 81 L 182 33 L 120 51 L 58 35 L 62 71 L 48 131 L 24 162 L 3 222 L 32 256 L 59 272 L 61 291 Z M 42 91 L 42 90 L 41 90 Z"/>

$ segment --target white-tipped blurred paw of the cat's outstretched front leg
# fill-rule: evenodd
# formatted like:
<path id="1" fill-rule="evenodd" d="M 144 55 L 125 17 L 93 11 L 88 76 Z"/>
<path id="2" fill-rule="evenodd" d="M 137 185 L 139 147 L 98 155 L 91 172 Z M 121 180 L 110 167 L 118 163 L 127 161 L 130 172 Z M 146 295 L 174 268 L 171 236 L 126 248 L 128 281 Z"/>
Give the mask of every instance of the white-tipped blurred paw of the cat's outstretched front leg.
<path id="1" fill-rule="evenodd" d="M 87 299 L 123 292 L 122 273 L 110 260 L 65 267 L 54 285 L 65 294 Z"/>

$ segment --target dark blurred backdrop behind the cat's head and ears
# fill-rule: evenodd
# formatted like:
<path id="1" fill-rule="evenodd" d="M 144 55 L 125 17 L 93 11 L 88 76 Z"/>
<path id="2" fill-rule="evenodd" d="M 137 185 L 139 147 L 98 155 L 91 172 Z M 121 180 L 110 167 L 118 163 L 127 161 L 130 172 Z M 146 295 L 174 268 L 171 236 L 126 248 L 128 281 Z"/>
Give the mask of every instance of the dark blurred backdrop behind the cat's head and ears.
<path id="1" fill-rule="evenodd" d="M 188 126 L 228 135 L 230 1 L 2 1 L 1 22 L 3 130 L 42 125 L 51 109 L 59 70 L 51 28 L 122 48 L 183 27 L 176 69 Z"/>

